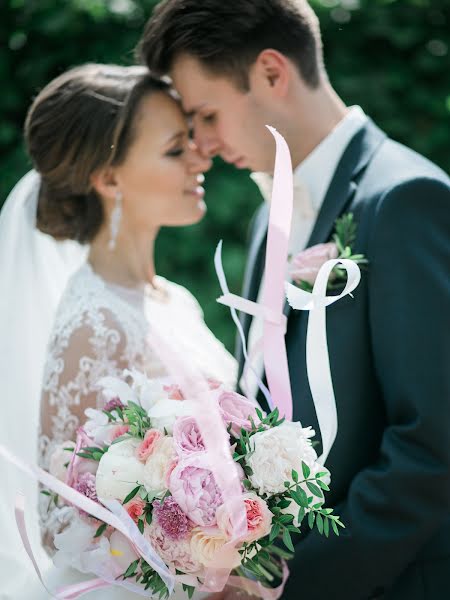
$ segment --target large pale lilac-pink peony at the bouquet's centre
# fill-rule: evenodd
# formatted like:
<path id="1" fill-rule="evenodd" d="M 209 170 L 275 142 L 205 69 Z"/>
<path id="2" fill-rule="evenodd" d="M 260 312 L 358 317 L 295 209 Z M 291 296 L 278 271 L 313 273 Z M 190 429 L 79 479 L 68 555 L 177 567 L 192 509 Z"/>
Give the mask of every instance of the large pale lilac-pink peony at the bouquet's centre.
<path id="1" fill-rule="evenodd" d="M 216 524 L 216 510 L 223 500 L 205 455 L 195 454 L 181 460 L 172 471 L 169 489 L 181 510 L 196 525 Z"/>

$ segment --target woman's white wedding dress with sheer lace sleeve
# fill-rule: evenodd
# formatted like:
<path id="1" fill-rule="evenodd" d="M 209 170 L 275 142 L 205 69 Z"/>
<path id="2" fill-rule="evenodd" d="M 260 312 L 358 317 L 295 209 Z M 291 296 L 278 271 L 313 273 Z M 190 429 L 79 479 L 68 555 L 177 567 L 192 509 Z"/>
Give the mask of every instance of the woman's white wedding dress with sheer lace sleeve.
<path id="1" fill-rule="evenodd" d="M 207 328 L 194 297 L 164 278 L 156 278 L 156 283 L 156 290 L 150 285 L 139 290 L 117 286 L 103 280 L 88 263 L 71 278 L 57 311 L 44 373 L 39 435 L 39 462 L 44 469 L 48 470 L 56 445 L 75 439 L 85 409 L 102 405 L 97 387 L 101 377 L 121 375 L 125 368 L 150 377 L 166 374 L 148 342 L 152 319 L 158 320 L 159 330 L 167 324 L 171 343 L 179 340 L 204 375 L 234 386 L 236 362 Z M 40 495 L 43 540 L 50 548 L 53 535 L 69 520 L 70 509 L 49 502 Z M 52 572 L 50 580 L 55 577 L 58 583 L 77 579 L 74 574 L 64 578 Z M 138 598 L 119 588 L 86 597 Z"/>

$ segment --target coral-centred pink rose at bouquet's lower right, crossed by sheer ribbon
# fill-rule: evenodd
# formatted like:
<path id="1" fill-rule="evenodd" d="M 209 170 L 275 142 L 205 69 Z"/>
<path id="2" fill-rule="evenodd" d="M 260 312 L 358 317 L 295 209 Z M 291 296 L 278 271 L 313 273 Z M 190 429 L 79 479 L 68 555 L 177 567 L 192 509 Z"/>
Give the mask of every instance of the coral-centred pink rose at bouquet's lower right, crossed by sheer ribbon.
<path id="1" fill-rule="evenodd" d="M 267 503 L 254 492 L 244 494 L 243 498 L 247 512 L 247 535 L 243 541 L 250 543 L 270 533 L 273 515 Z M 237 498 L 231 500 L 226 503 L 227 507 L 232 509 L 236 502 L 238 502 Z M 219 529 L 226 536 L 231 537 L 233 529 L 225 505 L 217 509 L 216 517 Z"/>

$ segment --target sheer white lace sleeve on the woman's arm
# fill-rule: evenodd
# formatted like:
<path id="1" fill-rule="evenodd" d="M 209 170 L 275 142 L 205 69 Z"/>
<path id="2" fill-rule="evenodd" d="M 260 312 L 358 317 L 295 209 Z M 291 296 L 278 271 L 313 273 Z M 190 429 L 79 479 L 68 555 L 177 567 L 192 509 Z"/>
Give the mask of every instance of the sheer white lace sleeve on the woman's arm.
<path id="1" fill-rule="evenodd" d="M 97 382 L 105 375 L 120 375 L 130 366 L 127 336 L 107 310 L 85 314 L 52 336 L 41 397 L 40 466 L 64 479 L 52 468 L 51 456 L 73 442 L 84 411 L 102 404 Z M 69 523 L 73 509 L 54 497 L 40 494 L 39 513 L 43 545 L 50 553 L 56 533 Z"/>

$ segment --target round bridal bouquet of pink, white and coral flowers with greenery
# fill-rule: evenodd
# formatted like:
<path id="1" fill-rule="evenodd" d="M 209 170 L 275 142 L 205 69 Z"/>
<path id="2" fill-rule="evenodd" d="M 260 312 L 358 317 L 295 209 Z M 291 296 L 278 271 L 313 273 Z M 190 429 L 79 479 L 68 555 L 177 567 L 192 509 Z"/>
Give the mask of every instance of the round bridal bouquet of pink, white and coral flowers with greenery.
<path id="1" fill-rule="evenodd" d="M 50 472 L 95 502 L 118 500 L 189 597 L 219 563 L 244 589 L 245 581 L 273 588 L 283 579 L 284 560 L 294 551 L 291 535 L 300 533 L 304 519 L 325 536 L 331 530 L 339 535 L 342 523 L 324 508 L 330 474 L 317 462 L 310 427 L 279 418 L 277 409 L 265 415 L 218 382 L 208 384 L 237 464 L 247 516 L 245 539 L 232 552 L 223 552 L 232 527 L 193 402 L 167 380 L 138 372 L 124 372 L 123 380 L 104 378 L 104 409 L 86 410 L 76 444 L 55 449 Z M 164 581 L 124 535 L 71 510 L 69 526 L 54 538 L 57 566 L 108 571 L 116 580 L 167 596 Z"/>

